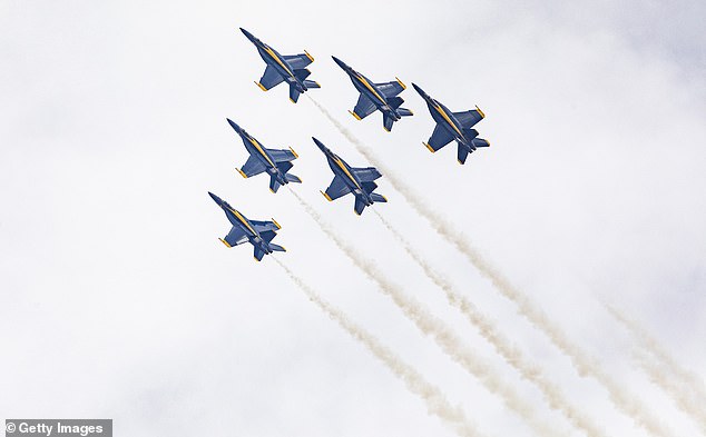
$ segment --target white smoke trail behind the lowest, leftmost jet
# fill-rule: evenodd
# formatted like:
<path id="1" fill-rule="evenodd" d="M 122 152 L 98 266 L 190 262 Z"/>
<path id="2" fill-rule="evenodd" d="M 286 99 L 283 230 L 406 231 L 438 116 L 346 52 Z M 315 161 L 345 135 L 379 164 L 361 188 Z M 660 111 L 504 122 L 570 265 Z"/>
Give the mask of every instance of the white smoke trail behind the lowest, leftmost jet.
<path id="1" fill-rule="evenodd" d="M 332 320 L 362 342 L 380 361 L 382 361 L 398 378 L 400 378 L 408 390 L 422 398 L 426 404 L 426 410 L 430 415 L 434 415 L 449 425 L 459 436 L 462 437 L 481 437 L 473 424 L 469 421 L 463 411 L 451 406 L 443 393 L 413 367 L 404 362 L 390 348 L 385 347 L 372 334 L 367 332 L 353 321 L 351 321 L 341 310 L 323 300 L 304 280 L 296 276 L 280 259 L 273 257 L 275 262 L 284 269 L 290 279 L 296 284 L 311 301 L 316 304 Z"/>

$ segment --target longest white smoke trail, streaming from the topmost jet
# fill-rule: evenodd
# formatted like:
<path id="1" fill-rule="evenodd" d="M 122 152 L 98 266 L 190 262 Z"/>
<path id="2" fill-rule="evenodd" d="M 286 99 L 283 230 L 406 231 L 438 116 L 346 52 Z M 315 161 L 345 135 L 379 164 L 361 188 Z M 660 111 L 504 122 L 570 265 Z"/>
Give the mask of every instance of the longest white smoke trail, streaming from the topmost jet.
<path id="1" fill-rule="evenodd" d="M 571 359 L 573 367 L 580 376 L 591 376 L 601 384 L 614 405 L 624 414 L 628 415 L 633 420 L 644 427 L 647 431 L 655 436 L 668 437 L 674 434 L 668 430 L 664 424 L 657 420 L 657 416 L 651 414 L 647 406 L 635 396 L 625 390 L 612 377 L 602 369 L 602 367 L 588 356 L 581 348 L 569 341 L 563 335 L 563 330 L 553 325 L 545 311 L 535 305 L 526 295 L 516 289 L 509 280 L 504 278 L 481 254 L 475 249 L 463 236 L 458 232 L 453 226 L 439 216 L 431 208 L 424 205 L 420 196 L 414 192 L 404 181 L 398 178 L 394 172 L 379 159 L 374 152 L 359 140 L 351 131 L 339 122 L 321 103 L 308 96 L 316 108 L 341 131 L 357 151 L 365 157 L 373 166 L 386 177 L 392 187 L 398 190 L 412 208 L 422 217 L 424 217 L 431 227 L 445 239 L 450 245 L 454 246 L 465 258 L 488 278 L 496 289 L 500 291 L 507 299 L 513 301 L 518 307 L 518 312 L 527 318 L 536 328 L 545 332 L 550 341 L 567 357 Z"/>

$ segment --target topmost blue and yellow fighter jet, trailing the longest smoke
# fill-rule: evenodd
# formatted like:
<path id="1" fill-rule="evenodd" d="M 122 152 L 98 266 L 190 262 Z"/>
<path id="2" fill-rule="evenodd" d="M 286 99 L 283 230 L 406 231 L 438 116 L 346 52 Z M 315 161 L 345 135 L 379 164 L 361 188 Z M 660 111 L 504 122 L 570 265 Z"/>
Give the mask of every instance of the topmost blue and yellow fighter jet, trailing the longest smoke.
<path id="1" fill-rule="evenodd" d="M 306 69 L 306 66 L 314 62 L 314 58 L 306 50 L 302 54 L 282 56 L 247 30 L 241 28 L 241 31 L 255 44 L 259 56 L 267 64 L 259 82 L 255 82 L 263 91 L 267 91 L 283 81 L 287 82 L 290 100 L 296 103 L 302 92 L 310 88 L 321 88 L 315 81 L 306 79 L 312 73 Z"/>

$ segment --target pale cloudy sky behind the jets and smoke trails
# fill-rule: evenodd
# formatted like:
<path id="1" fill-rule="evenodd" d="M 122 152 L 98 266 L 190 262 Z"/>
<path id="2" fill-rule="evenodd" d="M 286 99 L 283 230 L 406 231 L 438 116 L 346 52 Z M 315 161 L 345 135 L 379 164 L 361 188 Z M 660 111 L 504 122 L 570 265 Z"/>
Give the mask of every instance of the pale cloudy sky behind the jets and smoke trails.
<path id="1" fill-rule="evenodd" d="M 371 211 L 317 191 L 315 136 L 354 145 L 306 97 L 253 81 L 245 28 L 315 58 L 316 99 L 483 257 L 639 397 L 698 435 L 639 367 L 635 320 L 706 377 L 706 6 L 698 1 L 0 2 L 0 418 L 112 418 L 120 435 L 452 436 L 420 398 L 252 248 L 226 249 L 213 191 L 274 217 L 275 256 L 394 350 L 488 436 L 536 435 L 383 296 L 287 189 L 243 179 L 233 119 L 300 158 L 291 186 L 385 277 L 442 319 L 559 435 L 581 433 L 522 380 Z M 336 56 L 376 82 L 478 105 L 491 147 L 465 166 L 433 121 L 357 121 Z M 649 436 L 383 177 L 373 208 L 608 435 Z M 703 433 L 703 429 L 700 430 Z"/>

